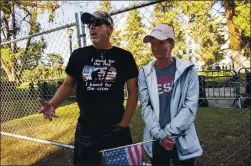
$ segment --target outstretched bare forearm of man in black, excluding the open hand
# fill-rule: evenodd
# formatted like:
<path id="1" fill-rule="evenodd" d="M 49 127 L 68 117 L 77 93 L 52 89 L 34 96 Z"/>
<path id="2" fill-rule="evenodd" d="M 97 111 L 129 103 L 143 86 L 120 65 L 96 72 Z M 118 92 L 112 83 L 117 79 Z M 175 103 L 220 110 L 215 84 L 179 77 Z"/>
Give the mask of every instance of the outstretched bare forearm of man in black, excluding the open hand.
<path id="1" fill-rule="evenodd" d="M 63 84 L 58 88 L 53 98 L 49 101 L 49 104 L 56 109 L 64 100 L 70 96 L 75 86 L 75 80 L 73 77 L 67 75 Z"/>

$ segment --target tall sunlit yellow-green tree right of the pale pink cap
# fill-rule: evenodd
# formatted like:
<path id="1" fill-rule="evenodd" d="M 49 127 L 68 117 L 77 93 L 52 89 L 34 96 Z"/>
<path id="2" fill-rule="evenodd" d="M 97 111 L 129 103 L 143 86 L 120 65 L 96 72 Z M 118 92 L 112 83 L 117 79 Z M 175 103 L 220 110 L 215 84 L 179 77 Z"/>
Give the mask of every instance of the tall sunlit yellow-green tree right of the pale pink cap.
<path id="1" fill-rule="evenodd" d="M 182 5 L 183 13 L 190 20 L 187 28 L 190 32 L 189 35 L 199 47 L 196 50 L 198 59 L 205 62 L 206 68 L 223 59 L 224 49 L 222 49 L 222 45 L 226 42 L 221 34 L 224 28 L 221 18 L 212 16 L 210 13 L 209 9 L 211 9 L 212 4 L 211 1 L 192 3 L 186 1 Z"/>

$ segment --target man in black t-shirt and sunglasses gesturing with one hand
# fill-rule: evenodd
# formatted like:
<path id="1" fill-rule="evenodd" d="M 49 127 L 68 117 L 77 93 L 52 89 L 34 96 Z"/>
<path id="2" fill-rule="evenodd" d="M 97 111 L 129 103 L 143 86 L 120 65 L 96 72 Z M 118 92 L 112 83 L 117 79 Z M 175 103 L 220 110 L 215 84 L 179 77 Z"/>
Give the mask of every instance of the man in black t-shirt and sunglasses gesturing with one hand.
<path id="1" fill-rule="evenodd" d="M 48 103 L 40 100 L 41 112 L 50 120 L 58 117 L 55 109 L 76 85 L 80 116 L 74 165 L 99 165 L 100 150 L 132 144 L 128 125 L 138 100 L 138 69 L 130 52 L 111 45 L 113 20 L 107 13 L 84 13 L 81 20 L 89 27 L 93 45 L 72 53 L 64 83 Z M 126 109 L 125 83 L 129 93 Z"/>

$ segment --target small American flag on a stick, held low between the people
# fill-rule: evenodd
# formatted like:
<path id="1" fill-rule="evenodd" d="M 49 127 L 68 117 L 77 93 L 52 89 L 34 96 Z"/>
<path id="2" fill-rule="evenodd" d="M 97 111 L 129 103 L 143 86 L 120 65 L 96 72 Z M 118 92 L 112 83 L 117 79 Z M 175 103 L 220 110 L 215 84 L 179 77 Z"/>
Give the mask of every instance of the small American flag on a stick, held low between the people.
<path id="1" fill-rule="evenodd" d="M 115 148 L 104 152 L 107 166 L 142 165 L 143 144 Z"/>

